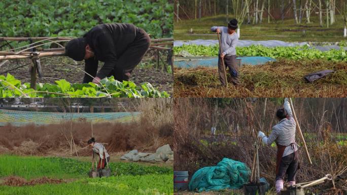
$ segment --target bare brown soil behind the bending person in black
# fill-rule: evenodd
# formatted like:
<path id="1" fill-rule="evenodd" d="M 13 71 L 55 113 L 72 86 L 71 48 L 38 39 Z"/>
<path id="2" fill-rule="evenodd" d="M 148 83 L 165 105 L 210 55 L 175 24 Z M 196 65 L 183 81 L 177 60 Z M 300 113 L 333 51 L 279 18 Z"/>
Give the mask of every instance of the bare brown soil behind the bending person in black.
<path id="1" fill-rule="evenodd" d="M 71 64 L 79 69 L 84 70 L 84 61 L 78 62 L 76 64 L 73 60 L 67 57 L 54 57 L 54 59 L 63 61 L 65 63 Z M 1 61 L 2 62 L 2 61 Z M 0 75 L 6 75 L 5 71 L 17 68 L 23 64 L 30 63 L 28 59 L 20 59 L 20 60 L 12 60 L 10 62 L 6 62 L 0 71 Z M 153 64 L 156 62 L 153 58 L 144 58 L 143 66 L 140 64 L 133 70 L 130 76 L 130 80 L 133 81 L 136 85 L 149 82 L 154 87 L 157 87 L 161 91 L 167 91 L 169 94 L 173 94 L 173 77 L 171 73 L 166 73 L 161 71 L 161 69 L 153 68 Z M 152 64 L 152 66 L 151 66 Z M 79 71 L 76 68 L 68 66 L 63 63 L 59 63 L 57 61 L 49 60 L 49 59 L 41 59 L 42 72 L 44 77 L 38 79 L 38 82 L 41 83 L 54 83 L 56 79 L 65 79 L 71 83 L 81 83 L 84 77 L 84 73 Z M 102 63 L 99 62 L 99 69 L 102 67 Z M 30 74 L 29 74 L 29 65 L 21 67 L 16 70 L 9 71 L 11 75 L 14 75 L 17 79 L 22 82 L 30 82 Z"/>

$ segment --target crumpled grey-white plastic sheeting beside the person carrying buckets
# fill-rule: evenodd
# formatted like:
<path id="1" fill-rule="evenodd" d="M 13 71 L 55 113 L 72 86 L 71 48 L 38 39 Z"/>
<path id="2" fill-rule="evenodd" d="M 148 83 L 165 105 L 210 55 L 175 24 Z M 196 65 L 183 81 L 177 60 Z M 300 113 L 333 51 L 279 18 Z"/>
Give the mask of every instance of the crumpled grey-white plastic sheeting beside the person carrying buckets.
<path id="1" fill-rule="evenodd" d="M 138 152 L 131 150 L 121 157 L 122 160 L 144 161 L 148 163 L 170 162 L 173 161 L 173 151 L 168 144 L 159 147 L 155 153 Z"/>

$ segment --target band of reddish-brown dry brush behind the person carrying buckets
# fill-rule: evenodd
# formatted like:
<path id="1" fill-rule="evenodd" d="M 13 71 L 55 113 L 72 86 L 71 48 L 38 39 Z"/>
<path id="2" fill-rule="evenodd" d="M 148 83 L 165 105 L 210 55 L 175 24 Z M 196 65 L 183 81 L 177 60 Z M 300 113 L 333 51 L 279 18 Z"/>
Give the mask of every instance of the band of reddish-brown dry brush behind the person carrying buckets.
<path id="1" fill-rule="evenodd" d="M 70 136 L 70 126 L 73 129 L 73 145 L 68 139 L 70 138 L 68 137 Z M 158 146 L 167 143 L 172 145 L 171 139 L 169 139 L 173 132 L 172 129 L 172 124 L 153 126 L 146 120 L 133 123 L 98 123 L 93 124 L 93 137 L 97 142 L 107 143 L 109 152 L 128 151 L 134 148 L 155 151 Z M 91 152 L 86 144 L 91 135 L 91 123 L 89 122 L 20 127 L 7 125 L 0 127 L 0 153 L 85 156 L 90 155 Z M 153 135 L 157 136 L 155 141 Z"/>

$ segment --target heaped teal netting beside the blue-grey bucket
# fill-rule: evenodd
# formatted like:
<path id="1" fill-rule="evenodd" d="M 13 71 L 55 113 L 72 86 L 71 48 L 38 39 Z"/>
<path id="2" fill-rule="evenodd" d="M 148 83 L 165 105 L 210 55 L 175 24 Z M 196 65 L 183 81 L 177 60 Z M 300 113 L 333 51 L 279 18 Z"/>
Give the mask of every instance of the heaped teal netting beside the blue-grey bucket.
<path id="1" fill-rule="evenodd" d="M 240 189 L 251 175 L 246 164 L 223 158 L 215 167 L 204 167 L 194 173 L 189 182 L 190 190 L 210 191 L 226 188 Z"/>

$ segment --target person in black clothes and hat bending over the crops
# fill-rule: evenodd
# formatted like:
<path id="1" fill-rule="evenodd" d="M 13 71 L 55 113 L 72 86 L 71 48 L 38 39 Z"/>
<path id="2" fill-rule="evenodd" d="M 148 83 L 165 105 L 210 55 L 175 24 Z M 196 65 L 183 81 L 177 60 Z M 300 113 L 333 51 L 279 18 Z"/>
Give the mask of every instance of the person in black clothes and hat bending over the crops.
<path id="1" fill-rule="evenodd" d="M 128 81 L 131 71 L 140 63 L 151 43 L 146 31 L 133 24 L 100 24 L 82 38 L 69 41 L 65 54 L 76 61 L 85 61 L 83 83 L 99 83 L 114 76 L 118 81 Z M 97 71 L 98 61 L 104 62 Z M 94 79 L 93 79 L 94 77 Z"/>

